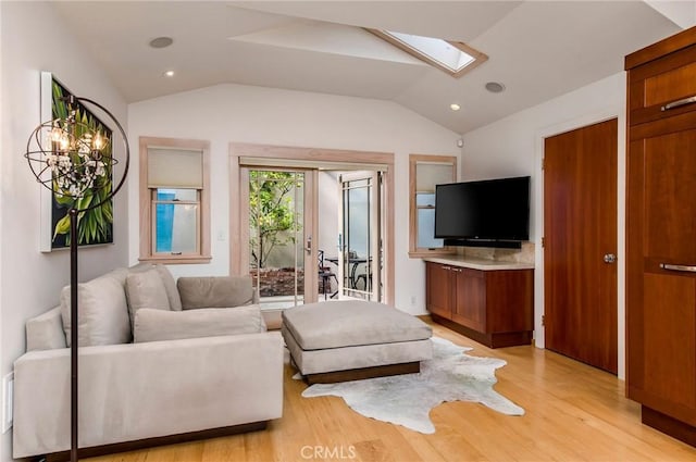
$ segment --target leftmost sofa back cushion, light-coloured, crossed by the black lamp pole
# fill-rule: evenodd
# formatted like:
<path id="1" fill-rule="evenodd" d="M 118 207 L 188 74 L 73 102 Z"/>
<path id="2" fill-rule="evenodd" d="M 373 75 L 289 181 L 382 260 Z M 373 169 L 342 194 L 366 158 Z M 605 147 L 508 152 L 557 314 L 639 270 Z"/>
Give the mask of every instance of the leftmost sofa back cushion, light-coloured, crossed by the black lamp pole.
<path id="1" fill-rule="evenodd" d="M 130 322 L 122 273 L 111 272 L 77 285 L 79 347 L 128 344 Z M 61 317 L 66 345 L 71 346 L 71 289 L 61 291 Z"/>

